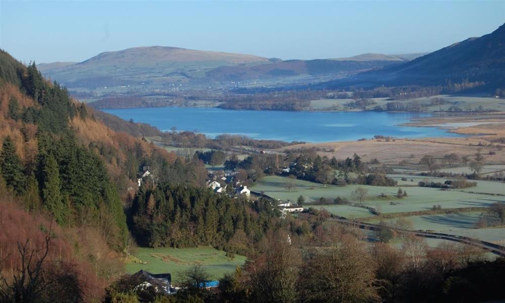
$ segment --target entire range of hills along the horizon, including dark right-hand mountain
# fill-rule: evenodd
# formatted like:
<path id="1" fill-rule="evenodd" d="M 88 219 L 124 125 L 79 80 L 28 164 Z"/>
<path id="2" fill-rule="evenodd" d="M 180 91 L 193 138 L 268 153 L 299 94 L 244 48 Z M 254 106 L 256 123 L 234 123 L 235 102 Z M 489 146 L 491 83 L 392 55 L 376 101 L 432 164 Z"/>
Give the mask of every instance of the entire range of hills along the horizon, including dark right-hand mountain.
<path id="1" fill-rule="evenodd" d="M 253 55 L 148 46 L 106 52 L 86 61 L 40 64 L 40 70 L 69 88 L 132 86 L 137 91 L 170 85 L 345 86 L 505 83 L 505 25 L 429 54 L 363 54 L 349 58 L 280 60 Z M 305 84 L 304 84 L 305 83 Z"/>

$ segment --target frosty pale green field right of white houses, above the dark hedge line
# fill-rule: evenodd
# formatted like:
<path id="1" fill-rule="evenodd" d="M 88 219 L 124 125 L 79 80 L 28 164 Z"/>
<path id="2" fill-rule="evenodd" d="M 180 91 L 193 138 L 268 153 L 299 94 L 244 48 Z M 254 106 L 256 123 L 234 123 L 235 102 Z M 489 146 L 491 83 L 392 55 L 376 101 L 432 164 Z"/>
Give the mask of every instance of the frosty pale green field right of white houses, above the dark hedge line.
<path id="1" fill-rule="evenodd" d="M 494 183 L 494 182 L 493 182 Z M 335 186 L 327 185 L 323 187 L 322 184 L 296 180 L 297 187 L 290 192 L 284 188 L 285 178 L 280 176 L 267 176 L 259 180 L 259 182 L 252 186 L 251 189 L 257 192 L 264 191 L 265 194 L 281 200 L 290 199 L 296 201 L 299 195 L 303 195 L 312 200 L 319 199 L 320 197 L 336 198 L 337 196 L 347 197 L 350 201 L 355 201 L 351 198 L 351 192 L 357 187 L 362 186 L 368 190 L 368 196 L 364 200 L 364 204 L 378 208 L 382 213 L 401 213 L 401 212 L 415 212 L 430 210 L 433 205 L 440 205 L 442 209 L 450 208 L 467 208 L 467 207 L 488 207 L 496 201 L 505 202 L 505 196 L 492 196 L 488 194 L 474 194 L 458 190 L 440 190 L 438 188 L 429 187 L 402 187 L 407 190 L 408 196 L 398 199 L 394 194 L 398 190 L 398 186 L 369 186 L 369 185 L 348 185 L 348 186 Z M 498 189 L 500 183 L 493 184 L 494 189 Z M 476 189 L 477 187 L 473 187 Z M 473 190 L 471 189 L 471 190 Z M 386 198 L 379 197 L 380 194 L 386 194 Z M 398 205 L 390 205 L 390 201 L 399 203 Z M 322 207 L 322 206 L 318 206 Z M 352 214 L 362 217 L 369 217 L 371 214 L 361 212 L 355 208 L 345 206 L 324 206 L 328 211 L 345 217 L 345 214 Z M 342 212 L 338 212 L 341 210 Z M 359 218 L 359 217 L 356 217 Z"/>

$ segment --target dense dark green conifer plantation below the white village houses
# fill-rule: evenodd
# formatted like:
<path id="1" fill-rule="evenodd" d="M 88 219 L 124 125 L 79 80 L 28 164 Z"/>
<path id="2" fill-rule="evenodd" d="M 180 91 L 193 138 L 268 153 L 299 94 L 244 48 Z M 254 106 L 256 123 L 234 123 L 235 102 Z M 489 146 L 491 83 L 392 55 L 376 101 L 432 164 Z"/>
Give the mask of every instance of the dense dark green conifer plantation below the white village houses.
<path id="1" fill-rule="evenodd" d="M 279 216 L 270 201 L 254 204 L 207 188 L 141 186 L 132 207 L 133 231 L 148 246 L 212 245 L 249 255 Z M 249 243 L 249 244 L 247 244 Z"/>

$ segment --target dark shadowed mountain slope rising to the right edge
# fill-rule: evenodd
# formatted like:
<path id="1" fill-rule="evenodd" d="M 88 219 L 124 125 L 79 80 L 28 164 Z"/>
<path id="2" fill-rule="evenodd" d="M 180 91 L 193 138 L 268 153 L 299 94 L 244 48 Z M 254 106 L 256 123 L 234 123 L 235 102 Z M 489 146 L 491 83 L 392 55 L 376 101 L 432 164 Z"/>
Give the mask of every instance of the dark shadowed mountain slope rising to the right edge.
<path id="1" fill-rule="evenodd" d="M 375 85 L 444 85 L 447 81 L 505 82 L 505 24 L 490 34 L 446 46 L 407 63 L 365 72 L 356 83 Z"/>

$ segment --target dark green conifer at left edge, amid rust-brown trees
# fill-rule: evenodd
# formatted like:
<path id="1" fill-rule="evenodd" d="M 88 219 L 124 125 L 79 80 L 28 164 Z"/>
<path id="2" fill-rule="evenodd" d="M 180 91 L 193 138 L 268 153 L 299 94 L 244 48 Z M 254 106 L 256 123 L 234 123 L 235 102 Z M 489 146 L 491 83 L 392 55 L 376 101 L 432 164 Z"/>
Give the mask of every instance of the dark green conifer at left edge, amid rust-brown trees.
<path id="1" fill-rule="evenodd" d="M 11 137 L 7 136 L 2 144 L 2 153 L 0 153 L 0 169 L 4 176 L 6 185 L 17 194 L 25 192 L 25 176 L 23 174 L 23 165 L 16 154 L 16 146 Z"/>

